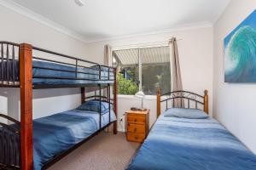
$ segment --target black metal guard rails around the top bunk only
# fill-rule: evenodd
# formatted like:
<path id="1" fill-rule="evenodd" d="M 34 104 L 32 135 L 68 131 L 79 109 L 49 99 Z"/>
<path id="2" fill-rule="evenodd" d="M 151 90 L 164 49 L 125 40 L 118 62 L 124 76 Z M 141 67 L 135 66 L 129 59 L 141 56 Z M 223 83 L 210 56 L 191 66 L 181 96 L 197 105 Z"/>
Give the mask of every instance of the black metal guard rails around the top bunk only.
<path id="1" fill-rule="evenodd" d="M 14 43 L 14 42 L 3 42 L 0 41 L 0 61 L 1 61 L 1 74 L 0 74 L 0 87 L 3 88 L 20 88 L 19 84 L 19 77 L 15 77 L 15 62 L 19 61 L 20 59 L 15 57 L 19 56 L 17 53 L 17 49 L 20 48 L 20 44 Z M 4 48 L 5 47 L 5 48 Z M 97 82 L 97 81 L 114 81 L 114 78 L 111 77 L 111 73 L 114 75 L 114 67 L 107 66 L 107 65 L 99 65 L 95 62 L 86 60 L 86 59 L 79 59 L 75 58 L 66 54 L 60 54 L 56 53 L 47 49 L 43 48 L 37 48 L 32 47 L 33 50 L 43 52 L 45 54 L 52 54 L 55 56 L 62 57 L 64 59 L 72 59 L 75 64 L 62 62 L 54 59 L 44 59 L 40 57 L 32 56 L 33 60 L 41 60 L 45 62 L 55 63 L 59 65 L 71 65 L 75 67 L 75 71 L 67 71 L 62 69 L 55 69 L 55 68 L 46 68 L 41 66 L 32 66 L 32 69 L 42 69 L 42 70 L 50 70 L 50 71 L 62 71 L 62 72 L 71 72 L 75 74 L 75 77 L 49 77 L 49 76 L 32 76 L 32 78 L 42 78 L 42 79 L 56 79 L 56 80 L 82 80 L 82 81 L 91 81 L 93 83 L 84 83 L 84 84 L 33 84 L 34 89 L 38 88 L 78 88 L 78 87 L 84 87 L 84 86 L 96 86 L 97 84 L 109 84 L 109 82 Z M 5 51 L 5 53 L 4 53 Z M 4 57 L 6 56 L 6 57 Z M 4 62 L 6 62 L 6 69 L 4 71 Z M 79 65 L 79 62 L 82 62 L 84 64 L 89 64 L 89 66 Z M 10 67 L 11 66 L 11 67 Z M 83 72 L 78 71 L 79 68 L 86 68 L 88 70 L 98 71 L 97 73 L 89 73 L 89 72 Z M 102 76 L 102 68 L 108 69 L 108 76 Z M 11 74 L 12 73 L 12 74 Z M 5 74 L 5 75 L 4 75 Z M 94 75 L 98 76 L 98 78 L 79 78 L 78 74 L 85 74 L 85 75 Z M 4 80 L 4 77 L 6 77 L 6 80 Z"/>

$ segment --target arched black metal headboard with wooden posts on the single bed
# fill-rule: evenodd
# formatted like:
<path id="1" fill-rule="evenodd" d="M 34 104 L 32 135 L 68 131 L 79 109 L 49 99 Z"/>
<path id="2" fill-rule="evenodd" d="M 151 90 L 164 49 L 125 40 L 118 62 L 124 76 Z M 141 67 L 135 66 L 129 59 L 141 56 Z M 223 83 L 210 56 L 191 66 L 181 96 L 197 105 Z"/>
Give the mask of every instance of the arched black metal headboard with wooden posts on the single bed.
<path id="1" fill-rule="evenodd" d="M 165 99 L 161 99 L 161 97 L 166 97 Z M 202 105 L 202 110 L 209 114 L 208 109 L 208 91 L 204 91 L 204 96 L 200 94 L 195 94 L 189 91 L 173 91 L 166 94 L 161 94 L 160 89 L 157 90 L 157 98 L 156 98 L 156 113 L 157 117 L 161 114 L 161 103 L 166 102 L 166 109 L 168 109 L 168 101 L 171 100 L 172 105 L 175 100 L 184 100 L 187 101 L 186 108 L 191 108 L 190 103 L 193 102 L 195 104 L 195 109 L 198 109 L 198 104 Z"/>

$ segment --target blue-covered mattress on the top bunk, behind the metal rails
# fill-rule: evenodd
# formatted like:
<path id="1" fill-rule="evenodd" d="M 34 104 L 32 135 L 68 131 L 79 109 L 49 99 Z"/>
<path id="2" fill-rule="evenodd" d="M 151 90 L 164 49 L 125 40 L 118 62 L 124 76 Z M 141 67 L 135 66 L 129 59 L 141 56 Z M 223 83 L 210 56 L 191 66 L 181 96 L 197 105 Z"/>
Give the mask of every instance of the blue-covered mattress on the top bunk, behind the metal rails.
<path id="1" fill-rule="evenodd" d="M 72 85 L 72 84 L 96 84 L 113 83 L 113 69 L 98 66 L 76 67 L 73 65 L 62 65 L 40 60 L 32 61 L 33 85 Z M 19 61 L 0 62 L 0 81 L 19 82 Z M 108 78 L 109 77 L 109 78 Z"/>

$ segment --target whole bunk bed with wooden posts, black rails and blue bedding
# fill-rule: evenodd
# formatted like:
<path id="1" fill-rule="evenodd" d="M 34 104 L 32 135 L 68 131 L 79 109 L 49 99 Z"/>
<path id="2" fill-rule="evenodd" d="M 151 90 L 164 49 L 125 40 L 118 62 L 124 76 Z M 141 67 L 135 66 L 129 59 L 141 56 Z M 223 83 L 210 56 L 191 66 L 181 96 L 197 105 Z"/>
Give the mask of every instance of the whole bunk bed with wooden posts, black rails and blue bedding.
<path id="1" fill-rule="evenodd" d="M 93 95 L 87 87 L 96 88 Z M 0 169 L 46 169 L 109 125 L 117 133 L 113 67 L 0 42 L 0 88 L 20 88 L 20 121 L 0 114 Z M 82 105 L 32 120 L 32 93 L 40 88 L 80 88 Z"/>

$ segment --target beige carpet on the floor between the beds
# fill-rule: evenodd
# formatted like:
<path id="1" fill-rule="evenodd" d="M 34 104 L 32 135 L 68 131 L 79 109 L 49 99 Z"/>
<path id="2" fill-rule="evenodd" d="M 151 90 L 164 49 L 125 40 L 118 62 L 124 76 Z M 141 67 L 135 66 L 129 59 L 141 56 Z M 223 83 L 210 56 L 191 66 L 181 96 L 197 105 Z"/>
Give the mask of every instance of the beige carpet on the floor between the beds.
<path id="1" fill-rule="evenodd" d="M 138 147 L 138 143 L 127 142 L 125 133 L 102 132 L 49 170 L 123 170 Z"/>

